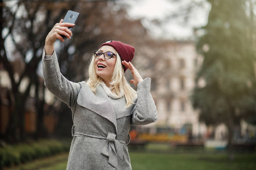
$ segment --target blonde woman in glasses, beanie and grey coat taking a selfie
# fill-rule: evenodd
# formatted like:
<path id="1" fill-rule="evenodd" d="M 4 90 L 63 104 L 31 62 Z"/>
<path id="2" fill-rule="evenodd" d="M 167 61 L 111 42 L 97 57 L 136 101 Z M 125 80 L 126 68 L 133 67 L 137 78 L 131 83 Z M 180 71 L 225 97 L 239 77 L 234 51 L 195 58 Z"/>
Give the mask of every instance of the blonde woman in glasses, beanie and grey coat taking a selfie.
<path id="1" fill-rule="evenodd" d="M 89 79 L 73 83 L 60 73 L 54 42 L 60 35 L 71 38 L 67 27 L 57 23 L 48 33 L 43 52 L 43 75 L 49 91 L 72 109 L 73 127 L 67 169 L 131 169 L 127 145 L 131 125 L 158 120 L 150 94 L 150 78 L 142 79 L 131 64 L 134 48 L 108 41 L 94 52 Z M 137 92 L 125 79 L 131 70 Z"/>

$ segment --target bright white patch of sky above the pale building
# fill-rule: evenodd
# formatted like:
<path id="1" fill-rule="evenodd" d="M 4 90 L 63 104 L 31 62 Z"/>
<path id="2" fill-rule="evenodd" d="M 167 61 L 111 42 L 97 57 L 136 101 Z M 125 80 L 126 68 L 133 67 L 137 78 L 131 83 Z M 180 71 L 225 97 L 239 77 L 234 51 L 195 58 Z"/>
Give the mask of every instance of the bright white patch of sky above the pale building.
<path id="1" fill-rule="evenodd" d="M 176 2 L 171 2 L 171 0 L 132 0 L 125 2 L 131 6 L 127 11 L 129 16 L 134 19 L 142 19 L 142 24 L 150 30 L 153 37 L 186 40 L 193 37 L 194 27 L 207 24 L 210 5 L 204 3 L 203 7 L 194 8 L 189 14 L 188 22 L 185 22 L 182 16 L 169 19 L 167 17 L 175 12 L 180 14 L 181 9 L 187 7 L 191 1 L 201 2 L 204 0 L 180 0 Z M 153 20 L 159 20 L 161 24 L 152 24 Z"/>

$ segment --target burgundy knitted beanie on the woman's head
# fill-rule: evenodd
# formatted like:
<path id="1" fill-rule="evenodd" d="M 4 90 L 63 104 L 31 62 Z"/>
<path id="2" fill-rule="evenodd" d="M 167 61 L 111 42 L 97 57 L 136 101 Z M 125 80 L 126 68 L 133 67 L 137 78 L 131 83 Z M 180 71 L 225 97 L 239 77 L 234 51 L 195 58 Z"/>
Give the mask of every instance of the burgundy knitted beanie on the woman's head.
<path id="1" fill-rule="evenodd" d="M 117 53 L 121 58 L 121 61 L 129 62 L 134 57 L 135 48 L 131 45 L 124 44 L 123 42 L 120 42 L 120 41 L 106 41 L 104 44 L 101 44 L 101 46 L 104 46 L 104 45 L 112 46 L 115 50 L 117 50 Z M 124 69 L 126 71 L 128 68 L 124 66 Z"/>

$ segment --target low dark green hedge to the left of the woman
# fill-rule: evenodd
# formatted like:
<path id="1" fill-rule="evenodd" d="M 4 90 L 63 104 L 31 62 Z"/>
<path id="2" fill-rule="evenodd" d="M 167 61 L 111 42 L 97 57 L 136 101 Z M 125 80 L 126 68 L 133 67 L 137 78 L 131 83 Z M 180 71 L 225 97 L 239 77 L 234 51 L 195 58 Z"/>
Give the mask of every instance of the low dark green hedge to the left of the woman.
<path id="1" fill-rule="evenodd" d="M 44 139 L 0 148 L 0 169 L 69 151 L 70 141 Z"/>

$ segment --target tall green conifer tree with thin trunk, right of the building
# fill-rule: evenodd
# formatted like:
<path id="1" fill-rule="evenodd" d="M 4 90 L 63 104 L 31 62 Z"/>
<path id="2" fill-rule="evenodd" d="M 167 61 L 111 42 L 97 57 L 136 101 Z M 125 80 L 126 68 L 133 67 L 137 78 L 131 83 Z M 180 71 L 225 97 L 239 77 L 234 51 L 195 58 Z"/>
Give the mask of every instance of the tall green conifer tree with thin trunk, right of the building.
<path id="1" fill-rule="evenodd" d="M 234 126 L 256 111 L 254 32 L 246 15 L 246 1 L 208 2 L 212 6 L 208 23 L 201 28 L 204 35 L 197 42 L 197 50 L 204 57 L 197 81 L 204 79 L 205 86 L 196 86 L 192 101 L 200 110 L 200 121 L 226 125 L 232 159 Z"/>

